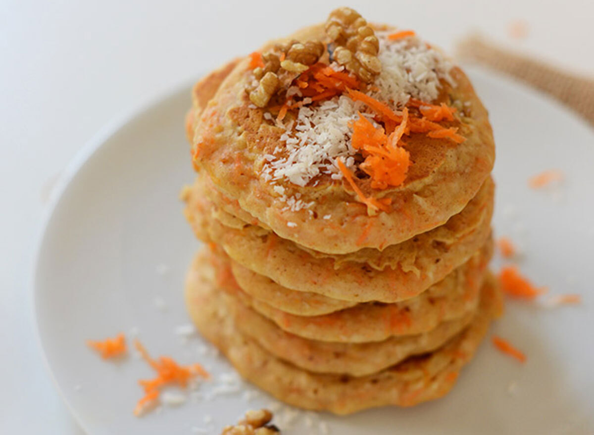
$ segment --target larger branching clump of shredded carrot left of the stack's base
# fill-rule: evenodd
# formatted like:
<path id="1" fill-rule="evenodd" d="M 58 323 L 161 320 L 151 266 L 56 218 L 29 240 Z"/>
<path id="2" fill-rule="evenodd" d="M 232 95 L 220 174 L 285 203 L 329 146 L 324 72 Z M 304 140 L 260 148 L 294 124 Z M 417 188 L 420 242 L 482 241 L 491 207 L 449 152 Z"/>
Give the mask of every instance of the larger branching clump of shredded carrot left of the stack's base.
<path id="1" fill-rule="evenodd" d="M 157 372 L 157 376 L 154 379 L 138 381 L 144 389 L 144 397 L 138 401 L 134 408 L 134 415 L 136 416 L 141 415 L 147 406 L 154 404 L 159 399 L 161 387 L 168 384 L 178 384 L 181 387 L 185 387 L 195 376 L 200 376 L 204 379 L 210 377 L 210 374 L 200 364 L 182 367 L 169 357 L 159 357 L 159 360 L 153 360 L 140 341 L 135 340 L 134 346 L 140 352 L 143 359 Z"/>

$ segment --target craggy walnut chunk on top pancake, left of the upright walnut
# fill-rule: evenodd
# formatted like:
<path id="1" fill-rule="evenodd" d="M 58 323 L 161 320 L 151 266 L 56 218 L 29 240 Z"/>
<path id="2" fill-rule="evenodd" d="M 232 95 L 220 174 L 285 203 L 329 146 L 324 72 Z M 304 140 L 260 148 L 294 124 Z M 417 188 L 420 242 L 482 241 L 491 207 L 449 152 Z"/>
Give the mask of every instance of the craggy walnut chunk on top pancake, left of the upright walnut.
<path id="1" fill-rule="evenodd" d="M 258 107 L 266 107 L 270 98 L 282 88 L 287 88 L 299 74 L 315 64 L 326 51 L 320 41 L 305 43 L 290 40 L 285 45 L 276 45 L 274 52 L 262 56 L 264 67 L 254 69 L 258 86 L 247 87 L 249 99 Z M 281 56 L 284 55 L 283 61 Z"/>

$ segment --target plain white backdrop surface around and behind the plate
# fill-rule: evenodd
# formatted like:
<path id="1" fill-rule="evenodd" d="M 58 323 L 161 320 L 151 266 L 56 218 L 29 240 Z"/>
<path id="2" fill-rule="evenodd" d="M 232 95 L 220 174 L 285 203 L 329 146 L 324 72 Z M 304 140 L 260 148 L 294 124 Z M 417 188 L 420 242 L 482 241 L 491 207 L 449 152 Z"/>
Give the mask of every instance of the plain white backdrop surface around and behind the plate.
<path id="1" fill-rule="evenodd" d="M 68 161 L 111 119 L 271 37 L 323 20 L 337 5 L 343 2 L 0 1 L 1 433 L 80 433 L 44 366 L 30 289 L 40 219 Z M 348 5 L 446 50 L 480 30 L 501 45 L 594 75 L 589 0 Z M 525 39 L 509 35 L 517 20 L 528 25 Z"/>

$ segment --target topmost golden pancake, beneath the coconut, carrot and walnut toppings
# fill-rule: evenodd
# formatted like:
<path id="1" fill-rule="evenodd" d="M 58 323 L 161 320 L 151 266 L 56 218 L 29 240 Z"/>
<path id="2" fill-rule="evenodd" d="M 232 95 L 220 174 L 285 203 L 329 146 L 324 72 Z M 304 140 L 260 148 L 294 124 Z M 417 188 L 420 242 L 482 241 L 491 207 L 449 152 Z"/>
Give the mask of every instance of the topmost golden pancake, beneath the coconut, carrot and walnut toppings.
<path id="1" fill-rule="evenodd" d="M 323 40 L 323 26 L 308 27 L 291 37 Z M 276 42 L 283 40 L 268 43 L 262 51 Z M 286 179 L 275 181 L 284 188 L 286 197 L 313 203 L 309 208 L 292 210 L 261 172 L 264 156 L 285 146 L 281 140 L 285 129 L 264 117 L 266 108 L 256 108 L 248 99 L 245 87 L 253 80 L 249 58 L 231 65 L 215 78 L 209 76 L 208 86 L 202 86 L 206 89 L 203 94 L 200 87 L 195 89 L 195 163 L 223 194 L 237 200 L 249 215 L 282 238 L 330 254 L 365 247 L 382 249 L 435 228 L 460 212 L 492 169 L 494 143 L 487 112 L 466 75 L 454 67 L 450 71 L 454 85 L 442 80 L 440 96 L 433 103 L 462 107 L 446 126 L 459 128 L 458 133 L 466 140 L 455 144 L 412 133 L 406 137 L 405 148 L 413 164 L 402 185 L 380 191 L 371 188 L 369 179 L 357 180 L 365 196 L 390 198 L 390 213 L 369 216 L 367 207 L 356 199 L 344 179 L 324 174 L 304 187 Z M 214 97 L 202 110 L 204 100 L 219 82 Z M 295 115 L 289 112 L 287 122 L 291 117 Z M 194 119 L 190 124 L 194 125 Z"/>

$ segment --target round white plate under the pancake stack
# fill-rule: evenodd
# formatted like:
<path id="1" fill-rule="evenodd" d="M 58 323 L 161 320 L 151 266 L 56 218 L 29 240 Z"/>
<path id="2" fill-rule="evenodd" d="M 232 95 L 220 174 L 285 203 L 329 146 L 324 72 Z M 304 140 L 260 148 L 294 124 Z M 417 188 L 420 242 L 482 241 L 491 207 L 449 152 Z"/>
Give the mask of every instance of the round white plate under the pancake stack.
<path id="1" fill-rule="evenodd" d="M 536 283 L 552 293 L 582 294 L 583 304 L 555 310 L 507 304 L 491 333 L 523 349 L 524 365 L 486 341 L 444 399 L 342 418 L 293 418 L 283 408 L 284 434 L 324 433 L 324 424 L 345 435 L 594 433 L 594 135 L 541 94 L 471 73 L 497 142 L 495 228 L 522 245 L 522 270 Z M 184 343 L 174 332 L 188 323 L 182 282 L 198 246 L 178 200 L 192 181 L 183 125 L 188 105 L 189 88 L 93 141 L 71 166 L 40 241 L 34 276 L 40 339 L 65 401 L 91 434 L 189 434 L 192 428 L 217 434 L 246 409 L 272 402 L 247 384 L 222 383 L 220 374 L 232 373 L 223 358 L 205 352 L 198 336 Z M 527 178 L 549 168 L 567 174 L 561 190 L 530 190 Z M 102 361 L 85 341 L 134 328 L 154 356 L 203 362 L 218 380 L 201 384 L 182 406 L 133 417 L 141 397 L 137 380 L 150 377 L 150 368 L 134 357 Z M 222 386 L 230 391 L 213 391 Z"/>

